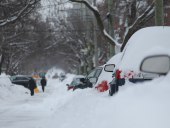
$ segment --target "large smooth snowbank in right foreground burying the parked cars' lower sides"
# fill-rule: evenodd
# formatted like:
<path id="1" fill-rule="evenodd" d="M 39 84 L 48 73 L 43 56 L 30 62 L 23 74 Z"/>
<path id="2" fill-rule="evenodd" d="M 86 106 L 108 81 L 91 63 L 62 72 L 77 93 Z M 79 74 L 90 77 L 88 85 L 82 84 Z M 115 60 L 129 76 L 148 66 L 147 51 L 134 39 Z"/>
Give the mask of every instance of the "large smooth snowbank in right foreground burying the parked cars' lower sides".
<path id="1" fill-rule="evenodd" d="M 54 107 L 42 128 L 169 128 L 169 80 L 170 73 L 150 82 L 127 83 L 113 97 L 94 89 L 68 92 L 70 99 L 63 93 L 65 104 Z"/>

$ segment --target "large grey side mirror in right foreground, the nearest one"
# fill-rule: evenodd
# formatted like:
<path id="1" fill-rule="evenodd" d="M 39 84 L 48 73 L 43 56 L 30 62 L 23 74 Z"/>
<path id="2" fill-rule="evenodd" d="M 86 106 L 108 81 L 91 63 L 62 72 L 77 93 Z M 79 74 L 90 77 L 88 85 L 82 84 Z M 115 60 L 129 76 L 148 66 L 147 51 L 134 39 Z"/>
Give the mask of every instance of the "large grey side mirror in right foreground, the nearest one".
<path id="1" fill-rule="evenodd" d="M 168 55 L 155 55 L 146 57 L 140 70 L 147 73 L 166 75 L 170 70 L 170 57 Z"/>

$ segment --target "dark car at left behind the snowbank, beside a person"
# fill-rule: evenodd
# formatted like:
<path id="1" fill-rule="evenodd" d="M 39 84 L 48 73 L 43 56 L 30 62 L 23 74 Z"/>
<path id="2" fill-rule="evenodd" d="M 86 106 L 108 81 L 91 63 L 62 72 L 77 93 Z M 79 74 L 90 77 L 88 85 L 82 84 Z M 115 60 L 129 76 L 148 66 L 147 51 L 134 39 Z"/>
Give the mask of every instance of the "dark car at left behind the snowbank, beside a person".
<path id="1" fill-rule="evenodd" d="M 29 80 L 31 78 L 32 78 L 31 76 L 16 75 L 16 76 L 11 76 L 10 80 L 13 84 L 22 85 L 26 88 L 29 88 Z"/>

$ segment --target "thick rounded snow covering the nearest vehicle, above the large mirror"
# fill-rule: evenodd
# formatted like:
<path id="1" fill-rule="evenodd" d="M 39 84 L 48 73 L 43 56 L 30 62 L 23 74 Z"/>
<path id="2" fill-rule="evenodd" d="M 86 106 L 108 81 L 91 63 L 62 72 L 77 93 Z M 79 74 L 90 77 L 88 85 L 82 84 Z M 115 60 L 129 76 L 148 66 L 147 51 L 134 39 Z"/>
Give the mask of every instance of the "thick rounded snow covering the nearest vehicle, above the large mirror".
<path id="1" fill-rule="evenodd" d="M 141 61 L 148 55 L 170 54 L 170 27 L 147 27 L 132 35 L 123 50 L 119 69 L 139 71 Z"/>

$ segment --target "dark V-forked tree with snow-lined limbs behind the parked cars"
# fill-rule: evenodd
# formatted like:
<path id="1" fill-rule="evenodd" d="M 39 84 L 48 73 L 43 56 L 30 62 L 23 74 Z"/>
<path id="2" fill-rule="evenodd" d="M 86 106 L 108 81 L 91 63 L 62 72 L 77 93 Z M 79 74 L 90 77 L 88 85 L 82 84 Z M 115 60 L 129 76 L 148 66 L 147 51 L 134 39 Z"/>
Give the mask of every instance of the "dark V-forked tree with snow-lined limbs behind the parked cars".
<path id="1" fill-rule="evenodd" d="M 82 3 L 84 5 L 86 5 L 94 14 L 97 23 L 98 23 L 98 27 L 101 31 L 101 33 L 103 34 L 103 36 L 112 44 L 112 45 L 116 45 L 118 47 L 121 47 L 121 51 L 123 50 L 123 48 L 125 47 L 128 39 L 131 37 L 131 35 L 137 31 L 140 26 L 144 23 L 146 23 L 153 15 L 154 15 L 154 2 L 148 6 L 148 8 L 146 9 L 146 11 L 144 11 L 144 13 L 142 13 L 140 16 L 138 16 L 138 18 L 131 23 L 132 25 L 129 26 L 127 28 L 127 31 L 125 33 L 125 37 L 122 43 L 119 43 L 116 39 L 112 38 L 105 30 L 101 15 L 97 9 L 97 7 L 93 6 L 89 1 L 87 0 L 70 0 L 71 2 L 76 2 L 76 3 Z M 135 0 L 132 0 L 132 6 L 133 6 L 133 2 L 135 2 Z"/>

